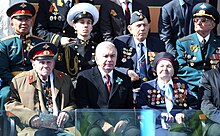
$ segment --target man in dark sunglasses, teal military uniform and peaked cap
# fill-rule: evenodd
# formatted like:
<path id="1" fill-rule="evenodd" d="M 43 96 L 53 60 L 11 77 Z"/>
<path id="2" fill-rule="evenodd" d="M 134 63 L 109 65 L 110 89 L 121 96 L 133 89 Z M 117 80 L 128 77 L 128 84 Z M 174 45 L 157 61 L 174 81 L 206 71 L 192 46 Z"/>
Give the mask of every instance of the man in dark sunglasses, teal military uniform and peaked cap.
<path id="1" fill-rule="evenodd" d="M 195 33 L 176 41 L 176 57 L 180 65 L 178 76 L 200 96 L 198 86 L 203 72 L 215 68 L 219 62 L 220 37 L 213 33 L 219 23 L 219 13 L 210 4 L 199 3 L 192 14 Z"/>

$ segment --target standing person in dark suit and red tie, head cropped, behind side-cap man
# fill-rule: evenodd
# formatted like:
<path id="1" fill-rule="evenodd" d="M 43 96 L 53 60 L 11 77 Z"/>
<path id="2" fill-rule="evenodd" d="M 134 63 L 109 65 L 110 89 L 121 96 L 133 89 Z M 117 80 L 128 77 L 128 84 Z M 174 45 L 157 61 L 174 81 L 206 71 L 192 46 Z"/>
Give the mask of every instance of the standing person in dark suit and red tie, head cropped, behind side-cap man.
<path id="1" fill-rule="evenodd" d="M 127 7 L 126 8 L 126 4 Z M 150 23 L 150 12 L 146 0 L 106 0 L 100 8 L 100 32 L 104 41 L 129 34 L 127 26 L 134 11 L 141 11 Z"/>

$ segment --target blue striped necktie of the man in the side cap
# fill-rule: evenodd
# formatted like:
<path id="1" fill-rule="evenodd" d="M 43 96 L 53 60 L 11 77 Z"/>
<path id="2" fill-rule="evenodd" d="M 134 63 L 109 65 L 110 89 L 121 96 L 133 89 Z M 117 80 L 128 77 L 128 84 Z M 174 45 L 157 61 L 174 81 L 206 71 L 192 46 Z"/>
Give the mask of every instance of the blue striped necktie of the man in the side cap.
<path id="1" fill-rule="evenodd" d="M 141 82 L 144 82 L 146 81 L 146 75 L 147 75 L 147 72 L 146 72 L 146 57 L 145 57 L 145 54 L 144 54 L 144 44 L 143 43 L 139 43 L 138 46 L 140 47 L 140 50 L 138 52 L 138 66 L 139 66 L 139 76 L 141 78 Z"/>

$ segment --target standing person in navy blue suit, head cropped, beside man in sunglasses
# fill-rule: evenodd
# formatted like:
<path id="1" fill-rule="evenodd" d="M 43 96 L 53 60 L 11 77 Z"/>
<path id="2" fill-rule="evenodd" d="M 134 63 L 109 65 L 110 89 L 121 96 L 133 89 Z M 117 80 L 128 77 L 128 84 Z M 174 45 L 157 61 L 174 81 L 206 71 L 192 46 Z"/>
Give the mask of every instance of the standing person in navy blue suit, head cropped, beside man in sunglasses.
<path id="1" fill-rule="evenodd" d="M 160 10 L 158 31 L 166 46 L 176 49 L 176 40 L 194 31 L 192 8 L 205 0 L 172 0 Z M 173 52 L 174 53 L 174 52 Z"/>

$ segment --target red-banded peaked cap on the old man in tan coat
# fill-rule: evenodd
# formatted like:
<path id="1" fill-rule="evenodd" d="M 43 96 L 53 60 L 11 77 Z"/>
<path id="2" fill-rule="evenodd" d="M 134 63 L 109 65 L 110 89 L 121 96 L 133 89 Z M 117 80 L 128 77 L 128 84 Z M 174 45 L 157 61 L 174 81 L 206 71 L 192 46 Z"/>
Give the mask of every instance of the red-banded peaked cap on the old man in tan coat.
<path id="1" fill-rule="evenodd" d="M 41 42 L 28 52 L 29 59 L 51 60 L 57 54 L 57 47 L 50 42 Z"/>

